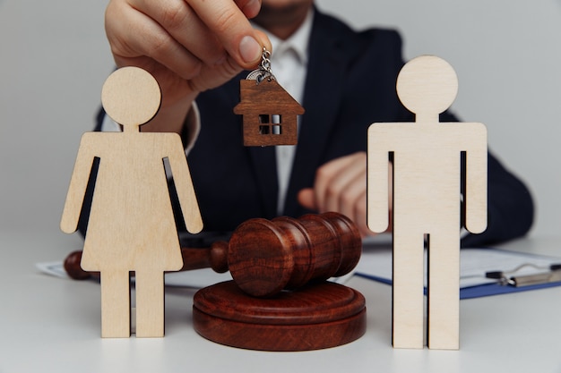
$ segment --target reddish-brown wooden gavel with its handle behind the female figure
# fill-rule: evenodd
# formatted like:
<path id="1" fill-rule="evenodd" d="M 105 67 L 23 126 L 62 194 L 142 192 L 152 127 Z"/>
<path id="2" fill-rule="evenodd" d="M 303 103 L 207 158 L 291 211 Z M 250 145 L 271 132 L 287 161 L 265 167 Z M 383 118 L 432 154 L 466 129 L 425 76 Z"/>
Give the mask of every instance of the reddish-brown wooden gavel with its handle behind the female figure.
<path id="1" fill-rule="evenodd" d="M 229 242 L 213 242 L 204 249 L 182 248 L 181 270 L 229 270 L 241 290 L 263 297 L 312 280 L 346 275 L 357 266 L 361 250 L 357 227 L 335 212 L 298 219 L 254 218 L 239 225 Z M 74 251 L 65 259 L 65 270 L 74 279 L 92 275 L 80 267 L 81 258 L 82 251 Z"/>

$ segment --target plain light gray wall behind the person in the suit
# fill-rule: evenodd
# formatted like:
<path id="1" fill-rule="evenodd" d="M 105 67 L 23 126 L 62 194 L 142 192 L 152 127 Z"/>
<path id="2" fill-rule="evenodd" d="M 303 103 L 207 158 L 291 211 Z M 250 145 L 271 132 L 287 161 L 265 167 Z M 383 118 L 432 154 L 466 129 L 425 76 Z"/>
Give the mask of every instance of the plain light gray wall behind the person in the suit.
<path id="1" fill-rule="evenodd" d="M 58 230 L 80 136 L 113 61 L 107 1 L 0 0 L 0 227 Z M 561 0 L 318 0 L 354 28 L 401 31 L 405 57 L 458 73 L 453 109 L 486 123 L 489 147 L 537 202 L 532 234 L 561 228 Z M 329 77 L 325 77 L 329 79 Z"/>

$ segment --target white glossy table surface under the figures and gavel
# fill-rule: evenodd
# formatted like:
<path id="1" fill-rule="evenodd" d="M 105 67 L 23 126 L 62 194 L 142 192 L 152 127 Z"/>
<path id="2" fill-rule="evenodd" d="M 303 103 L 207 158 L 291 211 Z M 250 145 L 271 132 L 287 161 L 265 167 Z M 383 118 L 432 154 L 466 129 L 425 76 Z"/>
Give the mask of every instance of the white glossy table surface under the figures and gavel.
<path id="1" fill-rule="evenodd" d="M 504 245 L 561 257 L 561 239 Z M 255 352 L 194 332 L 196 290 L 166 291 L 166 336 L 100 338 L 99 284 L 39 272 L 82 249 L 77 234 L 0 231 L 0 373 L 25 372 L 561 372 L 561 287 L 461 301 L 460 351 L 396 350 L 389 285 L 353 277 L 367 333 L 313 352 Z"/>

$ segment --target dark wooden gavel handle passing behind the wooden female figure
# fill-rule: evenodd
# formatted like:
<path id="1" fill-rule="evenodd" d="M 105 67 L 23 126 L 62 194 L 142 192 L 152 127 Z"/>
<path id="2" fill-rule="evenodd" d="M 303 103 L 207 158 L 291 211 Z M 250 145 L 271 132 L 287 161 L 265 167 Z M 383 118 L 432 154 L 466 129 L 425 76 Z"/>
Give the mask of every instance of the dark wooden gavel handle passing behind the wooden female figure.
<path id="1" fill-rule="evenodd" d="M 210 248 L 181 248 L 183 267 L 180 271 L 212 268 L 215 272 L 228 271 L 228 242 L 213 242 Z M 99 277 L 99 272 L 86 272 L 80 267 L 82 250 L 73 251 L 65 259 L 65 271 L 74 280 Z"/>

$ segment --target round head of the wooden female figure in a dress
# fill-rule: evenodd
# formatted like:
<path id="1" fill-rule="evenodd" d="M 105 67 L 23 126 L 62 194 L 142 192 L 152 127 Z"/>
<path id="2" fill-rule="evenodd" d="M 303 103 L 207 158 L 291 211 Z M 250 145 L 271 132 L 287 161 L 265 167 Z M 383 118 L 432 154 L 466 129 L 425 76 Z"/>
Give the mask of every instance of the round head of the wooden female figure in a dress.
<path id="1" fill-rule="evenodd" d="M 149 122 L 161 103 L 158 82 L 139 67 L 123 67 L 109 75 L 101 89 L 101 103 L 115 122 L 138 127 Z"/>

